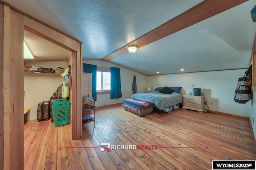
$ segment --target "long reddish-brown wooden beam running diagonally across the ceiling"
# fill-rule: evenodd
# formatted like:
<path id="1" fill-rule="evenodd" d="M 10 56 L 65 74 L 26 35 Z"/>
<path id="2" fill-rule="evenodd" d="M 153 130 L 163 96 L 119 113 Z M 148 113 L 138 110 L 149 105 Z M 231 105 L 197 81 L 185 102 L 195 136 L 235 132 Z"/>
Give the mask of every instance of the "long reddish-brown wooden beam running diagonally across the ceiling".
<path id="1" fill-rule="evenodd" d="M 229 10 L 230 8 L 238 6 L 246 1 L 248 0 L 205 0 L 204 2 L 194 6 L 190 10 L 180 14 L 179 16 L 127 45 L 138 45 L 139 48 L 143 47 L 166 36 L 174 34 L 175 32 L 183 30 L 184 28 L 206 20 L 207 18 Z M 110 61 L 116 57 L 128 53 L 128 49 L 126 48 L 127 45 L 103 57 L 101 60 Z"/>

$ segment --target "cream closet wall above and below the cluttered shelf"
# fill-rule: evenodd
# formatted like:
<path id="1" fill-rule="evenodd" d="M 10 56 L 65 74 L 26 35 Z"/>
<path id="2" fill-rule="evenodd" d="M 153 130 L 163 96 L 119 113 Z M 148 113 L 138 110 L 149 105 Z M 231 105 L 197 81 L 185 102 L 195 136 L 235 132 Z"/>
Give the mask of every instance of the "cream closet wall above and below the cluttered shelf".
<path id="1" fill-rule="evenodd" d="M 67 68 L 66 61 L 32 61 L 29 63 L 35 67 L 53 68 L 62 67 Z M 27 120 L 34 120 L 38 103 L 47 101 L 52 96 L 52 93 L 63 83 L 63 77 L 56 74 L 37 74 L 24 73 L 24 107 L 29 107 Z"/>

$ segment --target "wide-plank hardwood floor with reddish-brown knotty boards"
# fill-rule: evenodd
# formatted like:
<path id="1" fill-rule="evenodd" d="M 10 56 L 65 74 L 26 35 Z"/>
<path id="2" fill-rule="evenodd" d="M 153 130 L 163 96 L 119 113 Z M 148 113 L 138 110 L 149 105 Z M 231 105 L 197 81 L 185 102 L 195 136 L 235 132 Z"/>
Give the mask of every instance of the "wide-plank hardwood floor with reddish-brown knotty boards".
<path id="1" fill-rule="evenodd" d="M 27 121 L 24 169 L 194 170 L 211 169 L 212 160 L 227 157 L 256 160 L 248 119 L 182 109 L 139 117 L 122 106 L 98 108 L 95 114 L 95 128 L 85 123 L 81 140 L 71 140 L 70 125 Z M 101 152 L 102 142 L 144 148 Z"/>

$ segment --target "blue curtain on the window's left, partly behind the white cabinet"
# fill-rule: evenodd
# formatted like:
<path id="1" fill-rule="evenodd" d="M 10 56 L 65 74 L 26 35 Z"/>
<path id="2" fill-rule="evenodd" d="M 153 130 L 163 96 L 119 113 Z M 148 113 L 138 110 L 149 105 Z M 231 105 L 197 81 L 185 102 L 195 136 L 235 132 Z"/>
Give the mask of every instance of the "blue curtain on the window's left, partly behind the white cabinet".
<path id="1" fill-rule="evenodd" d="M 97 100 L 97 90 L 96 90 L 96 81 L 97 81 L 97 65 L 86 64 L 84 63 L 84 73 L 92 73 L 92 97 L 95 97 Z"/>

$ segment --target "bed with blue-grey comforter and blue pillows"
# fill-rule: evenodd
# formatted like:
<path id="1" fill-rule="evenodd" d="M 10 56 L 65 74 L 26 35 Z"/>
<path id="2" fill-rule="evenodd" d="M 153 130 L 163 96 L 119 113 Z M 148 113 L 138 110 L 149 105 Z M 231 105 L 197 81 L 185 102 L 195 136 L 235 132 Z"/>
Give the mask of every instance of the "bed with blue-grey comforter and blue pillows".
<path id="1" fill-rule="evenodd" d="M 159 89 L 161 88 L 163 87 L 158 87 L 155 89 L 155 91 L 147 93 L 135 93 L 132 95 L 131 99 L 151 101 L 159 110 L 163 110 L 164 108 L 168 108 L 183 102 L 183 95 L 179 93 L 181 87 L 170 87 L 170 89 L 175 89 L 171 94 L 159 93 Z"/>

